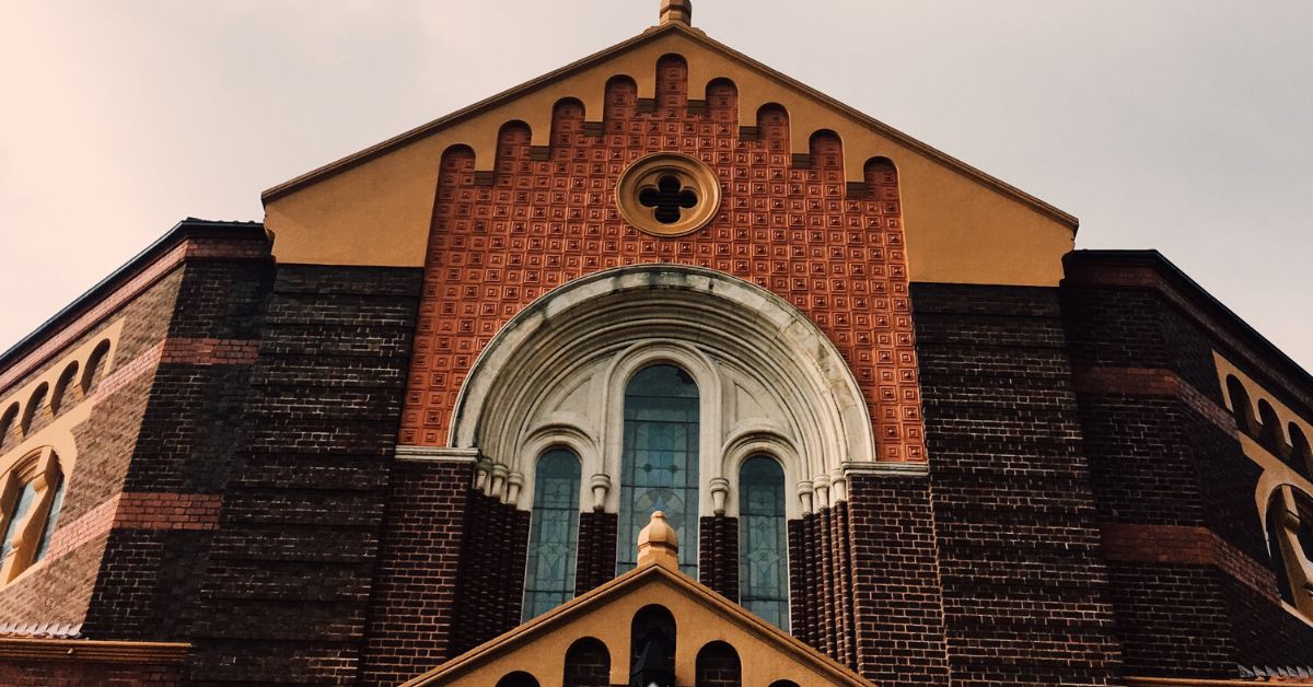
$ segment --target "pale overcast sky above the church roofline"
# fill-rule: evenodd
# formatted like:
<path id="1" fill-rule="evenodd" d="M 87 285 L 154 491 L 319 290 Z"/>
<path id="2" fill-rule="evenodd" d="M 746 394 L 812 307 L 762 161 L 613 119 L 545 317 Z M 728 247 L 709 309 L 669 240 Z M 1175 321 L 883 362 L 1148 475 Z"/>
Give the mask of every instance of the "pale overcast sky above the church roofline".
<path id="1" fill-rule="evenodd" d="M 656 22 L 659 0 L 0 0 L 0 349 L 194 215 Z M 730 46 L 1158 248 L 1313 368 L 1313 1 L 697 0 Z"/>

